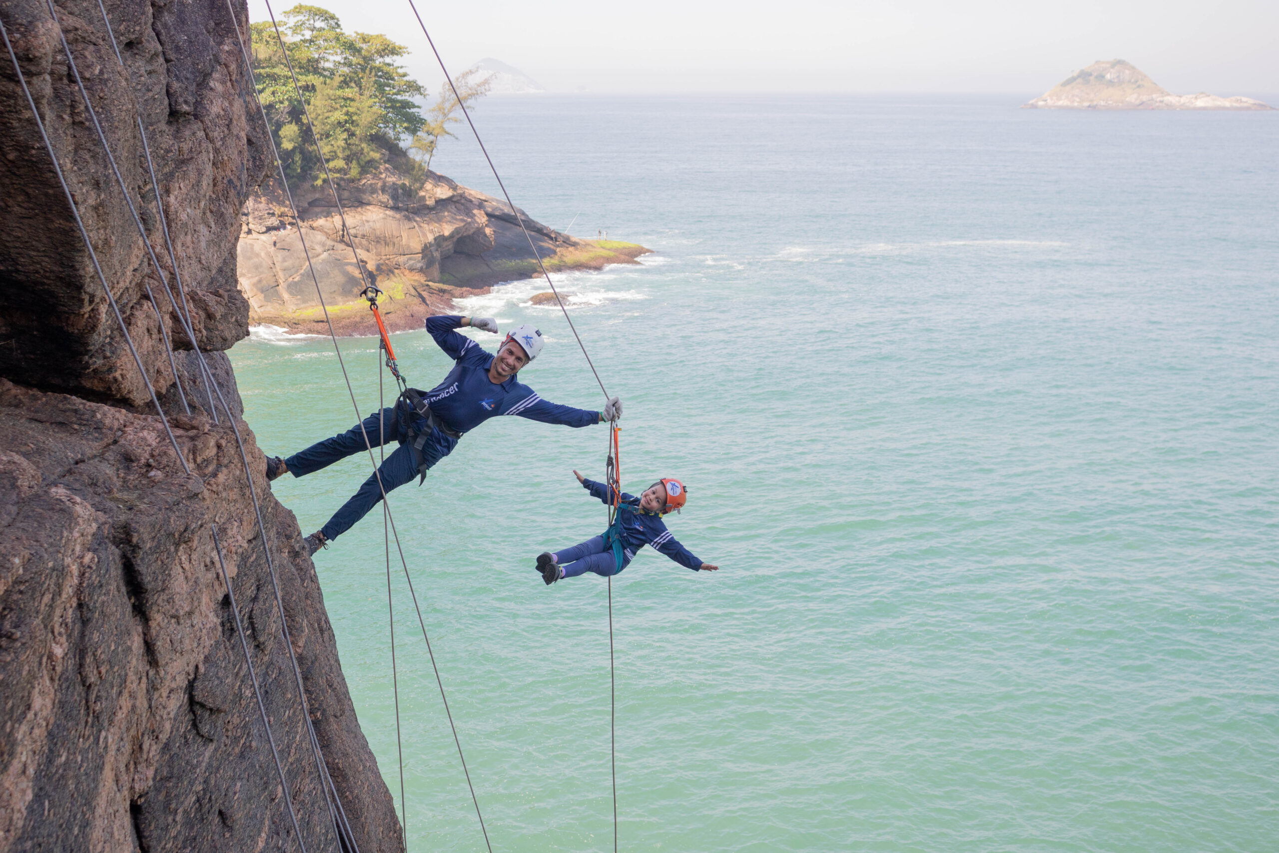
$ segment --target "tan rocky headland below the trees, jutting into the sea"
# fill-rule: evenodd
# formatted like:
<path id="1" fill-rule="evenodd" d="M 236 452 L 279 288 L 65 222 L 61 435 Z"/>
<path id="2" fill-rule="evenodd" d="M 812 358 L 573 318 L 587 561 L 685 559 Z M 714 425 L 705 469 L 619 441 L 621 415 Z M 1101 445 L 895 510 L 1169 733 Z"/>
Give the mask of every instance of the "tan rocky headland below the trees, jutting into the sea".
<path id="1" fill-rule="evenodd" d="M 425 317 L 453 311 L 457 297 L 500 281 L 540 275 L 519 223 L 505 201 L 427 173 L 421 187 L 390 164 L 358 180 L 339 179 L 338 194 L 366 276 L 382 292 L 391 331 L 420 329 Z M 327 184 L 290 187 L 320 292 L 339 335 L 377 334 L 356 254 Z M 619 240 L 583 240 L 519 211 L 551 272 L 636 263 L 648 252 Z M 263 184 L 244 206 L 238 244 L 239 289 L 249 322 L 292 333 L 329 334 L 316 281 L 279 182 Z"/>

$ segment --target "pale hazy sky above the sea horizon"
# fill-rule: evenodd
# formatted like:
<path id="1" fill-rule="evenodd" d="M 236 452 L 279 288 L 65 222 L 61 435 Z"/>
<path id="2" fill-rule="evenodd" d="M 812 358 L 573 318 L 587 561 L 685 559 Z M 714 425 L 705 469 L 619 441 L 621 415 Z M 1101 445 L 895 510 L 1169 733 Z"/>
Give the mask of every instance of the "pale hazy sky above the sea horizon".
<path id="1" fill-rule="evenodd" d="M 443 79 L 408 0 L 316 5 L 347 29 L 408 45 L 423 83 Z M 1120 58 L 1178 93 L 1279 92 L 1279 0 L 420 0 L 418 10 L 450 70 L 494 56 L 555 91 L 1037 95 Z M 249 15 L 266 19 L 263 0 L 249 0 Z"/>

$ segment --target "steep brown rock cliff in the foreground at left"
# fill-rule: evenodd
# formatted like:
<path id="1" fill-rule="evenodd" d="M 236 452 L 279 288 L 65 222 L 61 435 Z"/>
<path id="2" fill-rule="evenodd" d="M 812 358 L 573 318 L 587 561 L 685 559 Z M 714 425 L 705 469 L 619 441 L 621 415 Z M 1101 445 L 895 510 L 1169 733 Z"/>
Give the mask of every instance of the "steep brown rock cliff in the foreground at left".
<path id="1" fill-rule="evenodd" d="M 246 28 L 243 0 L 235 14 Z M 240 208 L 267 169 L 224 0 L 58 5 L 75 63 L 168 267 L 137 129 L 159 170 L 193 334 L 246 442 L 215 423 L 180 331 L 38 0 L 0 19 L 104 272 L 173 416 L 187 474 L 151 409 L 75 230 L 9 58 L 0 54 L 0 853 L 293 848 L 211 536 L 220 531 L 303 840 L 339 843 L 325 807 L 281 616 L 316 740 L 359 849 L 400 849 L 293 514 L 263 481 L 223 350 L 247 334 L 237 288 Z M 247 31 L 247 29 L 246 29 Z M 171 274 L 171 271 L 166 270 Z M 145 285 L 161 299 L 161 316 Z M 179 348 L 179 405 L 160 322 Z M 276 606 L 252 510 L 279 578 Z"/>

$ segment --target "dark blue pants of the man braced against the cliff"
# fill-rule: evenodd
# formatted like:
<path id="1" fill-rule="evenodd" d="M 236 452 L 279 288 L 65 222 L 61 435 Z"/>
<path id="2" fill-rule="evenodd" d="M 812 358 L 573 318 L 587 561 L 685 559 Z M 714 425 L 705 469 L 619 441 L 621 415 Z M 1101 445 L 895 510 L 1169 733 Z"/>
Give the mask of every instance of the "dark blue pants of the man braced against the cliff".
<path id="1" fill-rule="evenodd" d="M 363 426 L 363 431 L 361 431 L 361 426 Z M 368 445 L 365 444 L 366 435 L 368 436 Z M 363 453 L 367 446 L 377 448 L 399 440 L 399 418 L 395 417 L 395 409 L 385 408 L 381 412 L 370 414 L 345 432 L 318 441 L 306 450 L 293 454 L 284 462 L 289 466 L 289 473 L 294 477 L 306 477 L 321 468 L 327 468 L 339 459 Z M 432 462 L 434 459 L 428 459 L 426 463 L 427 467 Z M 377 468 L 377 472 L 382 478 L 382 489 L 388 492 L 411 482 L 417 476 L 417 466 L 413 464 L 413 449 L 407 444 L 395 448 Z M 352 495 L 350 500 L 333 514 L 329 523 L 320 528 L 325 540 L 335 540 L 349 531 L 356 522 L 363 518 L 382 499 L 382 489 L 377 487 L 377 478 L 370 474 L 365 485 L 359 487 L 359 491 Z"/>

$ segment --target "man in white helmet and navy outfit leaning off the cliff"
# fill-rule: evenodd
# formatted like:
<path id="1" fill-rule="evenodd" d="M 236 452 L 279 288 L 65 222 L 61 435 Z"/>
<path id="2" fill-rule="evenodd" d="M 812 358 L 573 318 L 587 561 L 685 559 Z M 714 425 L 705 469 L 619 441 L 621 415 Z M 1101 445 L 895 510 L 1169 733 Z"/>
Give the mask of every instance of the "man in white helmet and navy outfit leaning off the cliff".
<path id="1" fill-rule="evenodd" d="M 455 331 L 464 326 L 498 334 L 498 321 L 492 317 L 440 316 L 426 321 L 435 343 L 454 361 L 453 370 L 434 389 L 426 393 L 407 389 L 395 405 L 370 414 L 345 432 L 286 459 L 267 459 L 267 480 L 284 473 L 304 477 L 370 446 L 399 444 L 377 474 L 371 474 L 324 527 L 306 538 L 310 554 L 350 529 L 377 505 L 384 491 L 398 489 L 416 476 L 425 480 L 427 469 L 453 453 L 464 434 L 489 418 L 518 414 L 542 423 L 585 427 L 622 417 L 622 400 L 616 396 L 609 399 L 602 412 L 574 409 L 544 400 L 515 379 L 542 349 L 542 333 L 533 326 L 526 324 L 510 331 L 496 356 Z"/>

